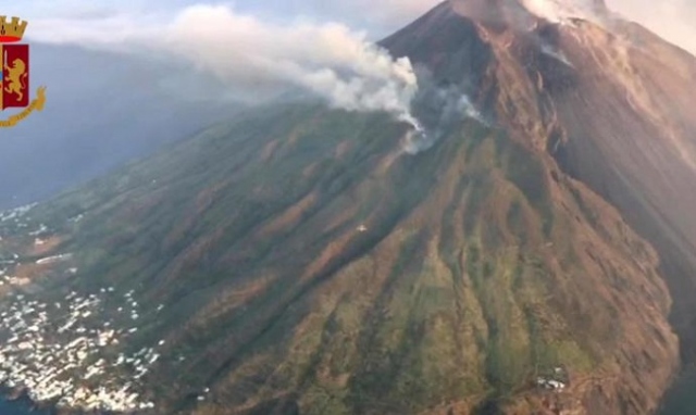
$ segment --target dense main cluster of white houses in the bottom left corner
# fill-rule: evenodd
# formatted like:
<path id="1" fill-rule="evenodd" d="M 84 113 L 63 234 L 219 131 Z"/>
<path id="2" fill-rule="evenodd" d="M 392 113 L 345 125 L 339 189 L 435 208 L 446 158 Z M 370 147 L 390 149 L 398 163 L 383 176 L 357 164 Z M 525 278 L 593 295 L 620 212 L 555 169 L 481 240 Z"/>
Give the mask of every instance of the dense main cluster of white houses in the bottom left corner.
<path id="1" fill-rule="evenodd" d="M 35 402 L 72 410 L 154 407 L 140 397 L 140 379 L 160 355 L 154 348 L 116 352 L 115 345 L 137 331 L 139 315 L 132 291 L 117 298 L 125 307 L 113 322 L 105 318 L 109 295 L 121 297 L 111 287 L 98 294 L 72 292 L 50 304 L 14 297 L 0 313 L 0 383 L 26 391 Z"/>

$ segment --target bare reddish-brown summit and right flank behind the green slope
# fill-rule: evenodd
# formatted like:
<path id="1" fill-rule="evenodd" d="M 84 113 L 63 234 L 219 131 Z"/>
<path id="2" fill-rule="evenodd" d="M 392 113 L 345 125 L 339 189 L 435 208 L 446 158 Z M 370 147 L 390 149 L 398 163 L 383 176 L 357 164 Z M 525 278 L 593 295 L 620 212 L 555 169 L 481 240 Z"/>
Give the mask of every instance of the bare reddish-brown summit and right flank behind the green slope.
<path id="1" fill-rule="evenodd" d="M 610 17 L 601 2 L 591 5 L 593 22 L 549 24 L 514 0 L 452 0 L 384 45 L 436 78 L 462 83 L 490 116 L 545 146 L 649 239 L 688 363 L 696 353 L 696 58 Z M 438 42 L 458 35 L 448 27 L 467 27 L 468 40 L 443 53 Z"/>

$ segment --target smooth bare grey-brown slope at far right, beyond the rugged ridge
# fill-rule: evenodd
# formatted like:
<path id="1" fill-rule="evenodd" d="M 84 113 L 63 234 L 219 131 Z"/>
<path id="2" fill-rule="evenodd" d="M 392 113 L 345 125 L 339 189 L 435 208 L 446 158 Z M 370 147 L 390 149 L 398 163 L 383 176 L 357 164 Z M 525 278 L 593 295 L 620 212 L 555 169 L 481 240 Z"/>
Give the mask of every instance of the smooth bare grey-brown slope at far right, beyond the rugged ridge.
<path id="1" fill-rule="evenodd" d="M 622 53 L 595 56 L 588 61 L 594 70 L 580 76 L 582 93 L 555 98 L 566 137 L 557 154 L 573 175 L 619 206 L 659 250 L 661 271 L 675 300 L 672 320 L 683 340 L 683 356 L 692 362 L 696 356 L 696 223 L 691 212 L 696 203 L 696 59 L 639 27 L 620 28 L 626 37 L 637 37 L 641 47 L 627 48 L 621 38 L 610 40 Z M 596 28 L 585 29 L 584 36 L 563 35 L 563 48 L 582 56 L 587 50 L 583 43 L 607 39 Z M 611 74 L 606 84 L 596 80 L 600 74 Z"/>

